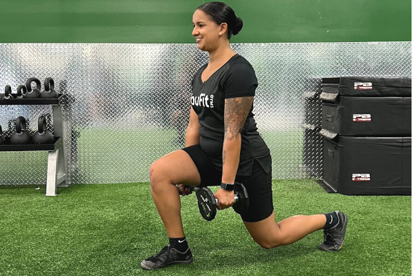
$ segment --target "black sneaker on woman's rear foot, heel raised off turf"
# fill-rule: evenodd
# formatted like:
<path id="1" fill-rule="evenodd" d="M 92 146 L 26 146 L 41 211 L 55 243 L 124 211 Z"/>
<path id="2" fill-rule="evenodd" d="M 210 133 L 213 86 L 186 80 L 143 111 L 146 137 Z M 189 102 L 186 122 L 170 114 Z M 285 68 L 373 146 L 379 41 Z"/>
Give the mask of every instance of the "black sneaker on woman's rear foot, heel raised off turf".
<path id="1" fill-rule="evenodd" d="M 330 229 L 324 230 L 324 242 L 318 248 L 324 251 L 338 251 L 343 246 L 344 235 L 346 235 L 347 215 L 340 211 L 334 211 L 338 215 L 338 224 Z"/>

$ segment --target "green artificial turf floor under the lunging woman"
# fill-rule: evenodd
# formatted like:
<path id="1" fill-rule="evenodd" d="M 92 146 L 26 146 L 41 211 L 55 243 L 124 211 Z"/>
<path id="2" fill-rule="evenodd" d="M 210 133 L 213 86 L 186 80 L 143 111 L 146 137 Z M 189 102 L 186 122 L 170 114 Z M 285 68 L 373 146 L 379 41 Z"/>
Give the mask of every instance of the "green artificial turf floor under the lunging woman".
<path id="1" fill-rule="evenodd" d="M 189 265 L 145 271 L 168 239 L 148 183 L 58 188 L 0 186 L 0 275 L 410 275 L 411 197 L 328 194 L 315 181 L 273 181 L 275 218 L 342 210 L 342 250 L 319 250 L 322 231 L 289 246 L 259 247 L 233 209 L 204 221 L 182 197 Z M 213 188 L 212 190 L 216 190 Z"/>

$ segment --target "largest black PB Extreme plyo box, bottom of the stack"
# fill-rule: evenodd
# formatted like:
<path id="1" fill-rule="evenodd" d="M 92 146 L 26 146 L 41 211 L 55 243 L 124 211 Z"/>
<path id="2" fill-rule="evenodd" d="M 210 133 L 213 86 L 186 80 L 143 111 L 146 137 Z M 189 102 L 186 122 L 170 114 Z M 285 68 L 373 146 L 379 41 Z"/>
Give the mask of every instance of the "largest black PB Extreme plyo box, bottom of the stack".
<path id="1" fill-rule="evenodd" d="M 342 195 L 411 195 L 410 137 L 324 138 L 323 181 Z"/>

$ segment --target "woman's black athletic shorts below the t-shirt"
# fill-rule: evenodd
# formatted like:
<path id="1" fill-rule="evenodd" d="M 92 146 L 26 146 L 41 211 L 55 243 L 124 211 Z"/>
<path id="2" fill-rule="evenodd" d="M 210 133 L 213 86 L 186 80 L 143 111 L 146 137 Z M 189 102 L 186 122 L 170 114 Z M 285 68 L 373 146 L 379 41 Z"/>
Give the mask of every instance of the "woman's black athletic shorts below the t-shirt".
<path id="1" fill-rule="evenodd" d="M 199 175 L 201 176 L 200 186 L 221 185 L 222 171 L 216 169 L 199 144 L 183 148 L 183 150 L 192 157 L 197 170 L 199 170 Z M 273 213 L 272 175 L 272 168 L 267 174 L 257 160 L 254 160 L 252 165 L 251 176 L 237 175 L 235 181 L 245 186 L 249 197 L 248 211 L 241 215 L 243 221 L 261 221 Z"/>

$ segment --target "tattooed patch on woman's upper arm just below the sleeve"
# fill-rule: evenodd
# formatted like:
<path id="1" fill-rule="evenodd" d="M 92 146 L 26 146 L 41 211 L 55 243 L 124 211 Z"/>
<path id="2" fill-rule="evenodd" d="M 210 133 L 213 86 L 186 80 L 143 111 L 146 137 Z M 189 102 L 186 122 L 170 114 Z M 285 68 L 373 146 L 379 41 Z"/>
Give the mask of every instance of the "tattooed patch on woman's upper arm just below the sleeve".
<path id="1" fill-rule="evenodd" d="M 254 97 L 225 99 L 225 139 L 232 140 L 241 133 Z"/>

